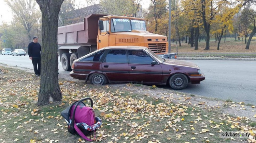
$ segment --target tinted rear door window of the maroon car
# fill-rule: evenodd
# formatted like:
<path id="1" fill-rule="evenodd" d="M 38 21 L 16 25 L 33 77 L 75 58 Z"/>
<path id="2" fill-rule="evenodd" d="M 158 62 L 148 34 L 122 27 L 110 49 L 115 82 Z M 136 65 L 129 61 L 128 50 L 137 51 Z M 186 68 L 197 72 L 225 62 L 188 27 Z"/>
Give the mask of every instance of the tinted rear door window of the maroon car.
<path id="1" fill-rule="evenodd" d="M 109 50 L 104 62 L 128 63 L 126 50 Z"/>

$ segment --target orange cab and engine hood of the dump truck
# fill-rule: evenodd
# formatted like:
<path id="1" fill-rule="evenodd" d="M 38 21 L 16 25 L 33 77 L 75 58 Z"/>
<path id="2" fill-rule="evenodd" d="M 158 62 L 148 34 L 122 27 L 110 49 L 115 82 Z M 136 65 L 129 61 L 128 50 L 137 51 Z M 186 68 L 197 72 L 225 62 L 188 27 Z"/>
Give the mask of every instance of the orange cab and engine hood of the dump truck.
<path id="1" fill-rule="evenodd" d="M 166 36 L 146 31 L 142 18 L 128 16 L 103 16 L 99 18 L 98 49 L 107 46 L 143 46 L 161 55 L 168 53 Z"/>

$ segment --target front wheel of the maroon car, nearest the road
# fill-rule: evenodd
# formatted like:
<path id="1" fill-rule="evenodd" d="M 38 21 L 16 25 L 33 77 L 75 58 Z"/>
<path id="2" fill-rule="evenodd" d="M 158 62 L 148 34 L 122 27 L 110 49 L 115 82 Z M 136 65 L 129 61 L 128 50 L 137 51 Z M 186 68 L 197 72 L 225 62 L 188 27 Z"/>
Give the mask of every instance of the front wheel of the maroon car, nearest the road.
<path id="1" fill-rule="evenodd" d="M 174 74 L 169 79 L 169 85 L 172 89 L 180 90 L 187 87 L 187 76 L 182 73 Z"/>

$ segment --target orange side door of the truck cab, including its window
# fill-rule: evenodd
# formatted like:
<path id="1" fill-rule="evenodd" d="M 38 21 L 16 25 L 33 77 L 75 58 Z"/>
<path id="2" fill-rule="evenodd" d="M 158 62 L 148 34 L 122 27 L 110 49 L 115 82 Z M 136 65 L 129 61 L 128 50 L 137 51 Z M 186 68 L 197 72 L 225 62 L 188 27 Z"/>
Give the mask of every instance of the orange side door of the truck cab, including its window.
<path id="1" fill-rule="evenodd" d="M 104 30 L 99 31 L 97 37 L 98 49 L 109 46 L 109 20 L 103 20 Z"/>

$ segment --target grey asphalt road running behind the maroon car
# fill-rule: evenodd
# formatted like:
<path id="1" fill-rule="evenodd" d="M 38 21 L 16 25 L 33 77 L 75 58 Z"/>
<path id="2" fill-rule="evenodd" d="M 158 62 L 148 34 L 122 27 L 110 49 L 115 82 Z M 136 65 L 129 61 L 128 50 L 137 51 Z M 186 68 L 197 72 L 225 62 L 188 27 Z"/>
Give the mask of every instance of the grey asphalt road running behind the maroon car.
<path id="1" fill-rule="evenodd" d="M 256 61 L 232 60 L 188 60 L 197 64 L 205 75 L 201 84 L 188 84 L 179 90 L 186 93 L 214 97 L 234 102 L 245 102 L 256 105 Z M 28 55 L 0 55 L 0 63 L 33 69 Z M 64 71 L 59 62 L 59 73 Z M 168 86 L 157 86 L 169 88 Z"/>

